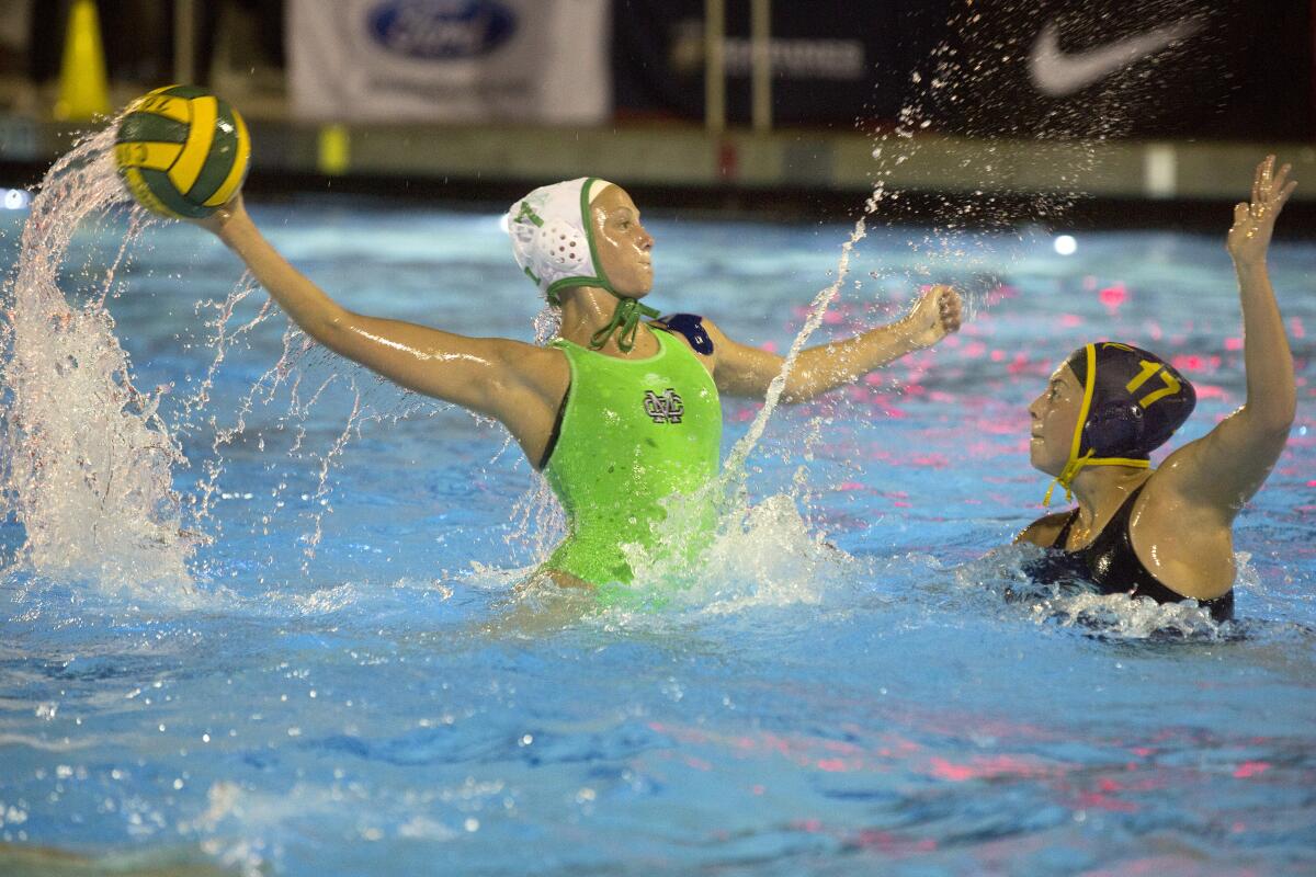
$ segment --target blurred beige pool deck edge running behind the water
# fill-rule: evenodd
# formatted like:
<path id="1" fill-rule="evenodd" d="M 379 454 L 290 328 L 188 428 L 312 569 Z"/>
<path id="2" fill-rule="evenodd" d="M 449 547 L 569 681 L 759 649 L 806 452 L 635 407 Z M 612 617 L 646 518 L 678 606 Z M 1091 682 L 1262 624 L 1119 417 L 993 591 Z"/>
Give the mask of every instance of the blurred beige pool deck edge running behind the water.
<path id="1" fill-rule="evenodd" d="M 34 184 L 91 128 L 0 114 L 0 185 Z M 275 118 L 253 120 L 251 139 L 253 184 L 265 191 L 501 201 L 547 180 L 594 175 L 658 202 L 750 213 L 854 209 L 880 175 L 888 191 L 915 202 L 974 192 L 1004 199 L 1082 192 L 1090 202 L 1113 205 L 1116 221 L 1138 213 L 1173 221 L 1244 197 L 1253 166 L 1269 151 L 1291 162 L 1298 179 L 1316 183 L 1311 143 L 988 141 L 936 133 L 901 139 L 891 130 L 820 129 L 711 134 L 659 121 L 578 129 Z M 874 158 L 878 145 L 888 158 Z M 896 163 L 891 155 L 911 158 Z M 1316 218 L 1316 184 L 1300 187 L 1294 201 L 1295 213 Z M 1132 205 L 1140 209 L 1130 212 Z"/>

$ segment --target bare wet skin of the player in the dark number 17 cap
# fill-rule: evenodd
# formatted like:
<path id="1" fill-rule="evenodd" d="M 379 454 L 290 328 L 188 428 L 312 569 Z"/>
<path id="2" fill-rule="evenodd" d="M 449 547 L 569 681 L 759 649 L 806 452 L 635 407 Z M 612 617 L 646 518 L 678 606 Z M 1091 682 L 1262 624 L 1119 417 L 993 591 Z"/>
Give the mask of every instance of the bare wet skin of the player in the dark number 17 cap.
<path id="1" fill-rule="evenodd" d="M 1275 217 L 1294 189 L 1287 174 L 1288 166 L 1274 172 L 1274 156 L 1257 167 L 1252 201 L 1234 208 L 1227 241 L 1244 313 L 1246 402 L 1157 469 L 1082 469 L 1071 485 L 1078 521 L 1067 543 L 1057 547 L 1073 551 L 1091 543 L 1124 500 L 1146 484 L 1129 518 L 1138 560 L 1184 597 L 1211 600 L 1233 586 L 1233 521 L 1279 459 L 1296 412 L 1292 356 L 1266 271 Z M 1029 459 L 1040 471 L 1057 476 L 1065 468 L 1082 400 L 1078 376 L 1062 366 L 1028 406 Z M 1062 511 L 1040 518 L 1019 540 L 1050 547 L 1067 517 Z"/>

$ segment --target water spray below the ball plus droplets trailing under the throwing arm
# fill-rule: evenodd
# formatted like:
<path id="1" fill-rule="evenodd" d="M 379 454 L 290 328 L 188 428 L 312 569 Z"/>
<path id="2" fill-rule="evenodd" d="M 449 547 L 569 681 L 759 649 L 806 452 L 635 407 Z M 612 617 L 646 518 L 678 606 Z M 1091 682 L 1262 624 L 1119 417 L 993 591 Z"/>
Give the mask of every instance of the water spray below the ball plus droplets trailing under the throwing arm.
<path id="1" fill-rule="evenodd" d="M 228 354 L 250 342 L 254 330 L 278 313 L 265 301 L 254 316 L 240 316 L 257 292 L 247 276 L 221 301 L 197 304 L 204 338 L 213 351 L 200 380 L 182 397 L 162 402 L 171 387 L 146 393 L 133 385 L 132 367 L 105 308 L 122 281 L 128 251 L 154 220 L 139 206 L 128 210 L 128 230 L 108 268 L 70 271 L 70 246 L 79 229 L 118 221 L 130 199 L 113 163 L 114 125 L 78 143 L 46 175 L 24 227 L 18 262 L 3 289 L 0 321 L 0 513 L 21 525 L 25 542 L 8 560 L 45 577 L 89 579 L 116 588 L 159 582 L 162 594 L 191 589 L 195 550 L 222 530 L 215 515 L 222 498 L 262 500 L 268 509 L 253 525 L 267 535 L 275 515 L 292 513 L 305 531 L 303 571 L 308 571 L 333 511 L 332 471 L 367 422 L 397 421 L 433 405 L 408 401 L 403 410 L 379 409 L 357 377 L 333 367 L 295 326 L 283 335 L 283 354 L 257 379 L 236 410 L 216 412 L 212 392 Z M 92 289 L 84 288 L 91 279 Z M 307 423 L 322 398 L 349 397 L 349 413 L 328 447 L 304 447 Z M 266 497 L 253 485 L 225 483 L 225 454 L 251 440 L 261 452 L 266 437 L 249 429 L 257 406 L 287 397 L 274 431 L 291 435 L 288 458 L 309 460 L 312 485 L 279 473 Z M 390 398 L 395 398 L 390 396 Z M 174 469 L 190 464 L 182 438 L 208 439 L 199 455 L 200 477 L 191 489 L 174 488 Z M 203 444 L 204 447 L 204 444 Z M 272 455 L 271 455 L 272 456 Z M 275 463 L 266 465 L 274 471 Z M 270 485 L 261 485 L 262 493 Z M 286 510 L 287 509 L 287 510 Z"/>

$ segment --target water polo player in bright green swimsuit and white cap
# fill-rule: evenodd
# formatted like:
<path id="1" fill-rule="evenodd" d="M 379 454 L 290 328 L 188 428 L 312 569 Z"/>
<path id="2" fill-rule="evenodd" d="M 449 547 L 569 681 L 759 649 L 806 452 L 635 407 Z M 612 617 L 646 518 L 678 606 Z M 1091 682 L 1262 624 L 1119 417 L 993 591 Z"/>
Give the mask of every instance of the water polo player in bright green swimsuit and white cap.
<path id="1" fill-rule="evenodd" d="M 353 313 L 275 251 L 241 197 L 200 225 L 329 350 L 511 431 L 567 513 L 569 535 L 544 569 L 554 581 L 629 582 L 621 546 L 661 552 L 651 525 L 665 502 L 717 475 L 719 396 L 765 396 L 782 358 L 692 314 L 642 320 L 658 316 L 640 301 L 653 287 L 654 241 L 620 187 L 592 178 L 546 185 L 507 218 L 517 263 L 562 312 L 561 337 L 545 347 Z M 934 287 L 895 323 L 803 351 L 783 398 L 812 398 L 928 347 L 959 327 L 959 314 L 958 295 Z M 691 526 L 711 522 L 696 514 Z M 691 534 L 682 551 L 707 535 Z"/>

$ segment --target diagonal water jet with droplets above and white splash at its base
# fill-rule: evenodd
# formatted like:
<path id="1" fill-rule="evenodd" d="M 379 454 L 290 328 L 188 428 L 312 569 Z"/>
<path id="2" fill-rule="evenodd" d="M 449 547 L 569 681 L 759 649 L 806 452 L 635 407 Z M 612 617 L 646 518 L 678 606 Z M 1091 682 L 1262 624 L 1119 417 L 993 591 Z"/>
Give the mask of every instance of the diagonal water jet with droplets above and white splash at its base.
<path id="1" fill-rule="evenodd" d="M 1175 5 L 1166 0 L 1166 14 Z M 1011 117 L 1013 108 L 994 103 L 990 89 L 984 89 L 986 79 L 999 68 L 1001 50 L 999 41 L 1005 39 L 1009 50 L 1026 54 L 1026 42 L 1036 33 L 1036 14 L 1032 8 L 1009 4 L 994 8 L 991 16 L 994 32 L 991 38 L 980 33 L 986 25 L 980 4 L 973 0 L 955 4 L 946 22 L 946 33 L 951 34 L 930 53 L 925 66 L 909 75 L 909 89 L 905 103 L 896 114 L 894 124 L 876 128 L 873 137 L 873 180 L 871 193 L 863 204 L 863 212 L 855 222 L 849 239 L 841 246 L 834 270 L 834 281 L 820 291 L 807 309 L 803 325 L 799 327 L 780 373 L 772 380 L 763 406 L 754 417 L 746 434 L 736 443 L 728 456 L 721 477 L 713 485 L 696 490 L 691 496 L 674 498 L 667 508 L 667 517 L 655 525 L 659 544 L 679 546 L 697 526 L 697 509 L 704 504 L 715 504 L 720 510 L 719 536 L 708 552 L 699 560 L 699 571 L 674 573 L 669 557 L 654 556 L 640 546 L 626 546 L 625 554 L 633 569 L 637 571 L 636 588 L 640 592 L 661 593 L 671 586 L 674 580 L 687 584 L 688 592 L 708 598 L 708 582 L 725 582 L 742 579 L 742 569 L 757 571 L 759 585 L 767 592 L 794 589 L 796 598 L 815 600 L 819 594 L 816 581 L 819 565 L 844 563 L 840 552 L 829 551 L 821 534 L 808 526 L 796 509 L 808 509 L 809 493 L 816 490 L 811 484 L 807 467 L 796 472 L 790 494 L 770 497 L 765 501 L 763 514 L 750 506 L 746 490 L 747 463 L 770 419 L 778 410 L 787 380 L 795 368 L 799 354 L 817 331 L 830 308 L 842 300 L 850 260 L 857 245 L 866 235 L 866 222 L 880 217 L 883 222 L 900 221 L 911 216 L 903 199 L 903 180 L 917 179 L 928 174 L 920 168 L 920 150 L 936 137 L 938 128 L 945 128 L 949 120 L 955 120 L 958 134 L 974 138 L 975 146 L 966 153 L 962 166 L 971 168 L 980 181 L 971 192 L 957 192 L 920 199 L 912 216 L 925 224 L 926 231 L 913 234 L 907 241 L 911 259 L 904 268 L 907 280 L 933 283 L 954 280 L 965 298 L 965 318 L 980 316 L 994 300 L 1000 280 L 990 266 L 1001 260 L 1000 249 L 1025 238 L 1026 226 L 1036 222 L 1062 221 L 1083 196 L 1082 184 L 1092 179 L 1104 158 L 1103 143 L 1123 135 L 1140 107 L 1145 107 L 1152 96 L 1154 82 L 1144 72 L 1138 79 L 1113 78 L 1100 92 L 1090 95 L 1084 104 L 1071 104 L 1055 109 L 1034 128 L 1023 130 L 1003 125 L 1001 120 Z M 1186 28 L 1186 33 L 1195 30 Z M 995 53 L 995 54 L 994 54 Z M 1007 53 L 1008 54 L 1008 53 Z M 1144 71 L 1148 67 L 1144 66 Z M 1154 64 L 1152 66 L 1154 68 Z M 1028 142 L 1026 159 L 1017 143 Z M 1012 191 L 1012 181 L 1021 172 L 1020 162 L 1041 163 L 1051 168 L 1057 183 L 1049 191 Z M 874 280 L 883 280 L 874 273 Z M 863 284 L 857 281 L 855 291 L 862 293 Z M 861 326 L 862 327 L 862 326 Z M 926 358 L 913 366 L 917 371 L 926 369 Z M 903 392 L 895 387 L 896 394 Z M 809 429 L 801 431 L 805 460 L 822 442 L 825 415 L 815 417 Z M 790 523 L 786 523 L 791 519 Z M 797 523 L 800 526 L 797 526 Z M 812 535 L 811 535 L 812 534 Z M 734 546 L 730 555 L 726 548 Z M 762 559 L 804 555 L 811 559 L 803 567 L 790 561 L 783 565 L 765 567 Z M 848 559 L 846 559 L 848 560 Z M 770 568 L 769 568 L 770 567 Z M 801 572 L 791 581 L 791 572 Z M 704 586 L 701 586 L 704 585 Z M 715 592 L 717 588 L 715 588 Z"/>

